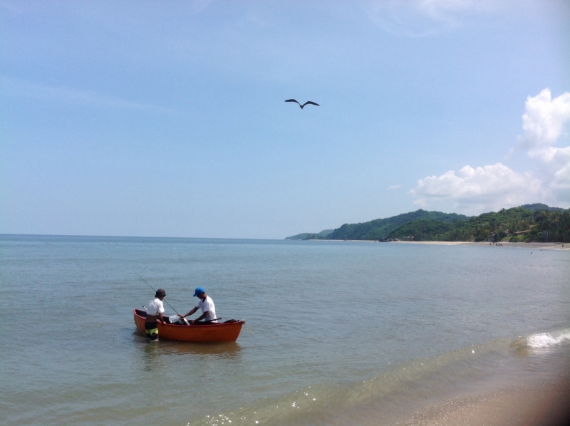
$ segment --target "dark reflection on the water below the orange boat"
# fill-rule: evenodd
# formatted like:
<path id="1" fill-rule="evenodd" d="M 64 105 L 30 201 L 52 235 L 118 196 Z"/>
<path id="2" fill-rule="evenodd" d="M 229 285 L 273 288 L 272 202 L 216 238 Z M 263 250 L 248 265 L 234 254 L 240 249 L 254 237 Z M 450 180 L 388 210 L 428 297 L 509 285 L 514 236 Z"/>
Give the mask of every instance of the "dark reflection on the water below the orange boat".
<path id="1" fill-rule="evenodd" d="M 239 360 L 241 346 L 236 342 L 190 343 L 177 341 L 147 342 L 140 331 L 133 333 L 134 341 L 140 343 L 140 354 L 145 363 L 143 370 L 154 371 L 164 368 L 165 358 L 171 356 L 199 357 L 212 360 Z"/>

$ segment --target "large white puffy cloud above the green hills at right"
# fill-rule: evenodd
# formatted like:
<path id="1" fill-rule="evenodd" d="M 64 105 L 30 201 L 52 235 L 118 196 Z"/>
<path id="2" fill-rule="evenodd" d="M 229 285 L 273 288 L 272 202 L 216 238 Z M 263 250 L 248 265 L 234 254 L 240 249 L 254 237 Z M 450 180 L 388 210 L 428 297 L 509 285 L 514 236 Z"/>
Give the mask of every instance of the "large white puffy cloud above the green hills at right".
<path id="1" fill-rule="evenodd" d="M 570 203 L 570 147 L 556 147 L 570 120 L 570 93 L 551 98 L 549 89 L 527 98 L 522 116 L 524 134 L 519 146 L 539 168 L 537 173 L 516 172 L 497 163 L 418 180 L 410 194 L 415 204 L 451 201 L 470 212 L 513 207 L 530 202 Z"/>

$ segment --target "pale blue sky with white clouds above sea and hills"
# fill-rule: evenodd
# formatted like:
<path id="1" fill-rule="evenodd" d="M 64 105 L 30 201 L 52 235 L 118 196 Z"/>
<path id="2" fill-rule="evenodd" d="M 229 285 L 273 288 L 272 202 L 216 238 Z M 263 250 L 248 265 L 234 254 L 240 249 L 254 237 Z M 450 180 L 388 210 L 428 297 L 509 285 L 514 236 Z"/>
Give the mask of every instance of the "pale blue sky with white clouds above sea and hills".
<path id="1" fill-rule="evenodd" d="M 0 233 L 570 207 L 567 1 L 0 0 L 0 19 Z"/>

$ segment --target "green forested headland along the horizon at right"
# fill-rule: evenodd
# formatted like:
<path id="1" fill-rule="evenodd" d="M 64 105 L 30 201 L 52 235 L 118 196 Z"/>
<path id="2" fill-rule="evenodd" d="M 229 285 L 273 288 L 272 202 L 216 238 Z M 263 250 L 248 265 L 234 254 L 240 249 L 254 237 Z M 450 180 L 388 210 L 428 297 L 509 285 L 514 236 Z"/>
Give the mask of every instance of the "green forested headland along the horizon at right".
<path id="1" fill-rule="evenodd" d="M 524 204 L 468 217 L 423 209 L 297 234 L 291 240 L 570 242 L 570 209 Z"/>

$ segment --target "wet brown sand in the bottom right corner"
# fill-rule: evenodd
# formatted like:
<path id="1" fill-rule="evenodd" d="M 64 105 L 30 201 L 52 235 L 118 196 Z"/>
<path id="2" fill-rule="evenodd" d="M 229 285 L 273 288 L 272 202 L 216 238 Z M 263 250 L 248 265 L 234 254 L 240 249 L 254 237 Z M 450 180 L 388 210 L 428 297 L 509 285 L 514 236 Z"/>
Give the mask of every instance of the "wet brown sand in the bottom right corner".
<path id="1" fill-rule="evenodd" d="M 427 407 L 398 426 L 562 426 L 570 424 L 570 377 L 456 398 Z"/>

